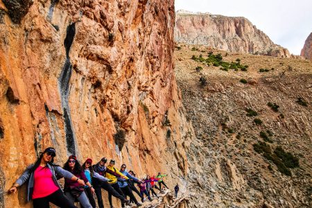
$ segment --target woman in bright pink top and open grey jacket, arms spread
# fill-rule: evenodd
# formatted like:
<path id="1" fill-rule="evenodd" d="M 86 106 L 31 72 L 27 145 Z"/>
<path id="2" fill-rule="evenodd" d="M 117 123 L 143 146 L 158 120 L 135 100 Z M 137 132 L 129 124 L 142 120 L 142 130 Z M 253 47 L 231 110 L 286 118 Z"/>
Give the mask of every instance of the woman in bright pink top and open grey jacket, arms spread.
<path id="1" fill-rule="evenodd" d="M 46 148 L 37 161 L 28 166 L 19 179 L 17 179 L 15 184 L 9 189 L 10 193 L 15 193 L 17 187 L 20 187 L 29 180 L 27 200 L 33 199 L 34 208 L 49 208 L 49 202 L 61 208 L 76 208 L 76 206 L 64 196 L 55 175 L 69 178 L 82 186 L 85 185 L 85 182 L 69 171 L 65 171 L 60 166 L 54 164 L 54 157 L 55 149 L 51 147 Z"/>

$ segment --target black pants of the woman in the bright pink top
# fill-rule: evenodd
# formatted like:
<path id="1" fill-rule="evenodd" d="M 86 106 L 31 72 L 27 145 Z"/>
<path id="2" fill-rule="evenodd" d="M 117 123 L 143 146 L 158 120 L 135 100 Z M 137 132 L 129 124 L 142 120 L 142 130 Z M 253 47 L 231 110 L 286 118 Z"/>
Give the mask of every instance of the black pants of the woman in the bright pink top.
<path id="1" fill-rule="evenodd" d="M 49 208 L 49 202 L 52 202 L 54 205 L 61 208 L 77 208 L 75 205 L 69 202 L 68 198 L 66 198 L 61 189 L 51 193 L 49 196 L 35 198 L 33 200 L 33 208 Z"/>

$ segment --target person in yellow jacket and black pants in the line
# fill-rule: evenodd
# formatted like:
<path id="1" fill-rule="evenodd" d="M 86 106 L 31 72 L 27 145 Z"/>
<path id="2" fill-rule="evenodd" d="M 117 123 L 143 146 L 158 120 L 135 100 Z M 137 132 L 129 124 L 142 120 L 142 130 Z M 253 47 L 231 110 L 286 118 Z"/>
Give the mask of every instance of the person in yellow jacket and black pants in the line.
<path id="1" fill-rule="evenodd" d="M 125 180 L 128 180 L 129 178 L 120 171 L 118 171 L 116 168 L 114 168 L 115 161 L 113 159 L 110 160 L 110 164 L 106 167 L 107 169 L 114 171 L 115 173 L 118 173 L 123 177 Z M 117 177 L 115 175 L 112 175 L 110 173 L 105 173 L 105 177 L 109 179 L 108 183 L 121 195 L 123 198 L 125 198 L 125 195 L 123 194 L 123 191 L 121 191 L 119 184 L 117 183 Z M 110 202 L 110 207 L 112 208 L 112 194 L 108 193 L 108 201 Z M 125 207 L 125 203 L 121 200 L 121 207 Z"/>

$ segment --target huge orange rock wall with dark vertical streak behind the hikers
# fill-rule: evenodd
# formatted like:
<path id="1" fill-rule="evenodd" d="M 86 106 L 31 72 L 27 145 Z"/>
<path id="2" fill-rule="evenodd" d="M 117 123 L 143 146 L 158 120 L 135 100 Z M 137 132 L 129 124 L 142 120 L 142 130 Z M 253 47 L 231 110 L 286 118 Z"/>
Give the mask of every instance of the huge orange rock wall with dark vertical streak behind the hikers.
<path id="1" fill-rule="evenodd" d="M 0 192 L 48 146 L 143 177 L 188 171 L 174 1 L 0 1 Z M 2 197 L 2 196 L 1 196 Z M 0 207 L 29 207 L 25 188 Z"/>

